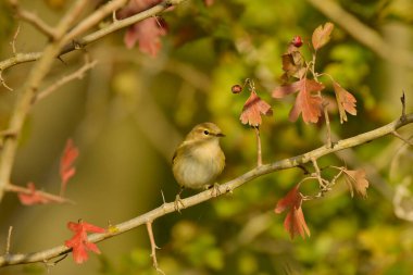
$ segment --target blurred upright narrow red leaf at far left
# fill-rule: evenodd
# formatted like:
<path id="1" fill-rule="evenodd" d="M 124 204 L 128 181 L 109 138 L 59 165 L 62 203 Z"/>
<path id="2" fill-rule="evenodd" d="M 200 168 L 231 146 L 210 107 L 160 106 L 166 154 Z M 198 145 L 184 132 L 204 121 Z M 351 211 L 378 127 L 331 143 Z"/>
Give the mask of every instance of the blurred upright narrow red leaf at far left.
<path id="1" fill-rule="evenodd" d="M 67 182 L 76 173 L 73 163 L 79 155 L 78 149 L 73 145 L 72 139 L 67 139 L 62 158 L 60 159 L 60 178 L 61 178 L 61 195 L 66 190 Z"/>

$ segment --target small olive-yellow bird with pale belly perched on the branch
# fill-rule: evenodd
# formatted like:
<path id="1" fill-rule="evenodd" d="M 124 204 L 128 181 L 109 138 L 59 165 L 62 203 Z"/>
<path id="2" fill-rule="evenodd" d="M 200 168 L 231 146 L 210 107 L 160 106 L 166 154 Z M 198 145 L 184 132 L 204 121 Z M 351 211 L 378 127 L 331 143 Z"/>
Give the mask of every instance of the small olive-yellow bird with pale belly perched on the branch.
<path id="1" fill-rule="evenodd" d="M 218 126 L 211 122 L 196 125 L 176 149 L 172 158 L 172 171 L 182 187 L 191 189 L 209 188 L 223 172 L 225 154 L 220 147 L 220 138 L 225 137 Z"/>

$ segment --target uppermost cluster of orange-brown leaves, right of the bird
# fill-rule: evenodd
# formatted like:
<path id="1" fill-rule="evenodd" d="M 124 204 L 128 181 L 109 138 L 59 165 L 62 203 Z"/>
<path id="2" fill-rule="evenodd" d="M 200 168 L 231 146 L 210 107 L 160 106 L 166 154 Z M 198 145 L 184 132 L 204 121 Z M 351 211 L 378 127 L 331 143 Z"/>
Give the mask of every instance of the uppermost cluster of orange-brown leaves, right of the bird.
<path id="1" fill-rule="evenodd" d="M 315 72 L 315 61 L 317 51 L 323 48 L 330 39 L 334 29 L 333 23 L 318 26 L 312 36 L 313 58 L 310 62 L 304 60 L 300 49 L 300 39 L 295 38 L 285 54 L 283 54 L 281 77 L 284 84 L 276 87 L 272 96 L 276 99 L 284 98 L 292 92 L 297 92 L 296 103 L 290 111 L 289 118 L 297 121 L 300 114 L 305 123 L 317 123 L 322 116 L 323 109 L 327 107 L 327 100 L 322 96 L 325 85 L 318 80 L 324 75 Z M 329 75 L 327 75 L 329 76 Z M 337 107 L 339 110 L 340 122 L 347 122 L 347 113 L 356 115 L 355 98 L 342 88 L 331 76 L 333 87 L 336 95 Z"/>

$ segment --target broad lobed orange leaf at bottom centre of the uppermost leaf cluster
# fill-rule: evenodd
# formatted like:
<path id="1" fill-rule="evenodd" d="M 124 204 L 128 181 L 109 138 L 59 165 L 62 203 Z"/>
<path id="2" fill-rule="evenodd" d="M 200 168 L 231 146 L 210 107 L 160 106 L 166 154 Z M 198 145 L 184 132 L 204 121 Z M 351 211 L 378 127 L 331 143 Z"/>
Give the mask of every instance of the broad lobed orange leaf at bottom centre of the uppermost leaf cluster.
<path id="1" fill-rule="evenodd" d="M 316 123 L 322 115 L 322 98 L 314 92 L 324 89 L 322 83 L 313 79 L 302 78 L 292 84 L 279 86 L 273 90 L 273 98 L 284 98 L 292 92 L 299 91 L 296 98 L 296 103 L 290 111 L 289 120 L 297 121 L 300 113 L 305 123 Z"/>

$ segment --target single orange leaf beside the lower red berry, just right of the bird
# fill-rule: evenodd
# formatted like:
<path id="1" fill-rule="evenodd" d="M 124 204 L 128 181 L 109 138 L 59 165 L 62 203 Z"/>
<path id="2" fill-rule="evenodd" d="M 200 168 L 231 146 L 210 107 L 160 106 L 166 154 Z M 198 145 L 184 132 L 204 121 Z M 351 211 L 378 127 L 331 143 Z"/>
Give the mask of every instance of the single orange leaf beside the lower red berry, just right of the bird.
<path id="1" fill-rule="evenodd" d="M 262 100 L 255 91 L 251 91 L 242 108 L 241 116 L 239 117 L 242 124 L 249 124 L 253 127 L 260 126 L 262 123 L 261 114 L 272 115 L 271 105 Z"/>

